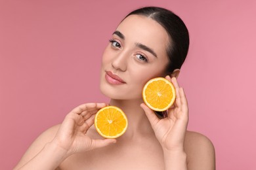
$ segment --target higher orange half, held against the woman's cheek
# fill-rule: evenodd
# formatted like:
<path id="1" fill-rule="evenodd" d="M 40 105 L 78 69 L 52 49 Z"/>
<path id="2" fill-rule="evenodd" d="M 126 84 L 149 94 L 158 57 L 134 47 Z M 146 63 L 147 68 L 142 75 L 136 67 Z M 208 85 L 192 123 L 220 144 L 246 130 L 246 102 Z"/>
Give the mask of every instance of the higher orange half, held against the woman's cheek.
<path id="1" fill-rule="evenodd" d="M 150 109 L 162 112 L 173 105 L 176 98 L 175 87 L 166 78 L 152 78 L 146 82 L 142 97 Z"/>

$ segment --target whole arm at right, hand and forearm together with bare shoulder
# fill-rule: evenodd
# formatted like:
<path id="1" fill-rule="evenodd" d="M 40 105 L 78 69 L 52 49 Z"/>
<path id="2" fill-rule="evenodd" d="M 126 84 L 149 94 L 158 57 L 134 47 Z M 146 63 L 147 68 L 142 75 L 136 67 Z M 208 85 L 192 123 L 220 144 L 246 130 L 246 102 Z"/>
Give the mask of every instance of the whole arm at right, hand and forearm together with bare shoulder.
<path id="1" fill-rule="evenodd" d="M 188 103 L 184 90 L 176 78 L 166 78 L 175 86 L 177 95 L 175 105 L 168 109 L 167 118 L 159 119 L 144 103 L 141 105 L 163 148 L 165 169 L 215 169 L 214 149 L 209 140 L 199 135 L 188 135 L 186 131 Z"/>

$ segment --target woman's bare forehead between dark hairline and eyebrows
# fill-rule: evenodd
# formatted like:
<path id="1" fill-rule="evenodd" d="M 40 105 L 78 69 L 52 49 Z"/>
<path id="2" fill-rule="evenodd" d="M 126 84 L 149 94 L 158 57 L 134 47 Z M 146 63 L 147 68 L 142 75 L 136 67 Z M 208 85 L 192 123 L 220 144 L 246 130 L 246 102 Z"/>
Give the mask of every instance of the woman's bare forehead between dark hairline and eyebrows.
<path id="1" fill-rule="evenodd" d="M 152 18 L 141 15 L 128 16 L 118 25 L 116 31 L 121 33 L 121 36 L 117 36 L 125 43 L 144 44 L 159 56 L 166 55 L 169 36 L 165 29 Z"/>

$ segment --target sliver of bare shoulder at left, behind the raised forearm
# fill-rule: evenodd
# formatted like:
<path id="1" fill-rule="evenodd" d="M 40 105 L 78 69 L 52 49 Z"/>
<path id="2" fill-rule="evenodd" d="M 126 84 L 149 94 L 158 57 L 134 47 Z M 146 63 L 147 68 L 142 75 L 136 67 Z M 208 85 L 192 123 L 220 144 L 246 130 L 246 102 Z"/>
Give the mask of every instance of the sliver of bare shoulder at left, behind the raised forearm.
<path id="1" fill-rule="evenodd" d="M 55 137 L 59 127 L 60 124 L 50 127 L 49 129 L 43 131 L 43 133 L 41 133 L 41 135 L 39 135 L 39 137 L 37 137 L 37 139 L 33 141 L 33 143 L 22 156 L 21 160 L 18 162 L 16 167 L 18 167 L 19 165 L 23 165 L 27 161 L 31 160 L 38 152 L 42 150 L 45 144 L 51 142 Z"/>

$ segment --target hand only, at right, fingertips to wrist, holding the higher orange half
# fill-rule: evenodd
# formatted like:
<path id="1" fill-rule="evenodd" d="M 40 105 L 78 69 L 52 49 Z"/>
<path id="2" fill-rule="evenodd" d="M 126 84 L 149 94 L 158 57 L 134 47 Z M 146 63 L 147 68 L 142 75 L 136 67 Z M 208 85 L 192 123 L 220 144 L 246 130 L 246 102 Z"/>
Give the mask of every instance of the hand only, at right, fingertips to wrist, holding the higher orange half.
<path id="1" fill-rule="evenodd" d="M 148 120 L 160 142 L 163 150 L 184 151 L 184 138 L 188 125 L 188 103 L 183 88 L 179 87 L 177 79 L 170 76 L 165 77 L 173 83 L 176 90 L 174 105 L 167 110 L 167 118 L 158 118 L 153 110 L 144 103 L 140 105 L 144 109 Z"/>

